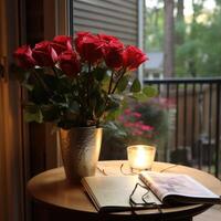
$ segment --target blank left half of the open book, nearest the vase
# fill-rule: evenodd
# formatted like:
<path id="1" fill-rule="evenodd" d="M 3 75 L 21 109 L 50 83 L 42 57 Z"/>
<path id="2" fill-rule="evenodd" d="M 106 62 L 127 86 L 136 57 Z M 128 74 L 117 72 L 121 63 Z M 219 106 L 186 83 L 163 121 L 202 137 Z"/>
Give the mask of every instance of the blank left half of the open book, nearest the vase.
<path id="1" fill-rule="evenodd" d="M 107 176 L 107 177 L 85 177 L 82 185 L 90 196 L 97 211 L 128 211 L 131 210 L 129 196 L 137 182 L 143 183 L 138 176 Z M 143 183 L 144 185 L 144 183 Z M 141 196 L 147 192 L 144 188 L 137 188 L 134 200 L 141 203 Z M 159 199 L 152 193 L 148 194 L 148 202 L 161 204 Z M 143 209 L 138 206 L 137 209 Z"/>

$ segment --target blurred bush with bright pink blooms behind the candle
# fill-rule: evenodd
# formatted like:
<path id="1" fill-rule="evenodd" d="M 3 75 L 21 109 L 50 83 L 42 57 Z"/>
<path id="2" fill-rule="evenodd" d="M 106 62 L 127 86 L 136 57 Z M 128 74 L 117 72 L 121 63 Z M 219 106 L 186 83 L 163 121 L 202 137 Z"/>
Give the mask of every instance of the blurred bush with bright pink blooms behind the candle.
<path id="1" fill-rule="evenodd" d="M 117 150 L 122 152 L 120 158 L 126 147 L 133 144 L 156 144 L 158 150 L 162 148 L 169 127 L 167 108 L 157 98 L 145 103 L 130 101 L 126 109 L 120 109 L 117 120 L 115 116 L 115 120 L 112 118 L 113 122 L 104 124 L 103 152 L 105 149 Z M 148 130 L 148 126 L 152 129 Z"/>

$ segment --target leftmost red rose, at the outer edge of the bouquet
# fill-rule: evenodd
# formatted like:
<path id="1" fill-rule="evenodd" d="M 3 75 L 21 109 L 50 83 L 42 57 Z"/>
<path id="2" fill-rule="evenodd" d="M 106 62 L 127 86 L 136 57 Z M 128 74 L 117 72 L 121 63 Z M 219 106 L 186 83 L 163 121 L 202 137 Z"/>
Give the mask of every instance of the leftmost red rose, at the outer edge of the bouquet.
<path id="1" fill-rule="evenodd" d="M 18 66 L 22 69 L 30 69 L 35 65 L 35 61 L 32 57 L 32 51 L 29 45 L 23 45 L 14 52 Z"/>

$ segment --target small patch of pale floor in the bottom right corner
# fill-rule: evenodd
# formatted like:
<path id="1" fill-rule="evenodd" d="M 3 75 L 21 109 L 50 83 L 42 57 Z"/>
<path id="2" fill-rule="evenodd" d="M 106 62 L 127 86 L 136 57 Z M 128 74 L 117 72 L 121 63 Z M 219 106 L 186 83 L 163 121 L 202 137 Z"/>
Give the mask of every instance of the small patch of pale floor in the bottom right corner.
<path id="1" fill-rule="evenodd" d="M 221 206 L 214 206 L 193 218 L 193 221 L 221 221 Z"/>

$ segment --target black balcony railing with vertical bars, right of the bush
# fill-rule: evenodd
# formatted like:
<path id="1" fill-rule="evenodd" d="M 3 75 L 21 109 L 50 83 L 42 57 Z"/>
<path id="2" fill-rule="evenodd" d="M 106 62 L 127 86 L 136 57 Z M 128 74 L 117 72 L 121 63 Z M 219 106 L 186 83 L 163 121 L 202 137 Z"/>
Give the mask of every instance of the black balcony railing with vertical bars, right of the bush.
<path id="1" fill-rule="evenodd" d="M 170 133 L 164 161 L 186 164 L 220 177 L 221 78 L 146 80 L 154 85 L 158 98 L 172 104 L 167 108 Z"/>

